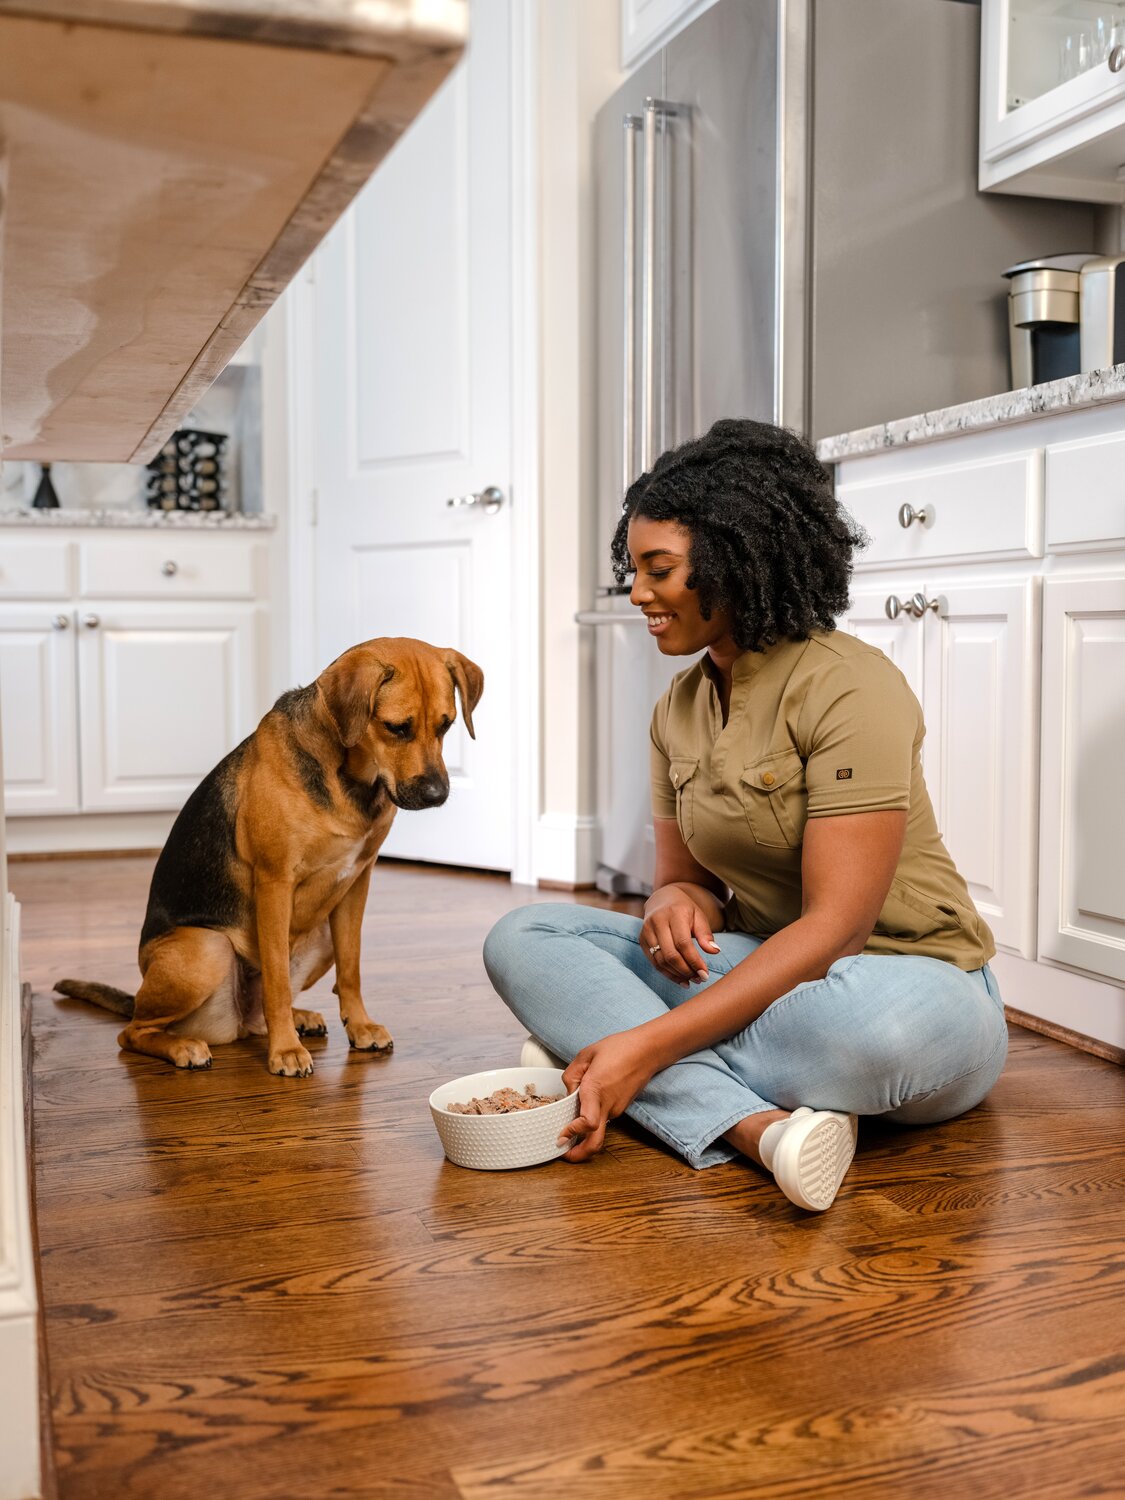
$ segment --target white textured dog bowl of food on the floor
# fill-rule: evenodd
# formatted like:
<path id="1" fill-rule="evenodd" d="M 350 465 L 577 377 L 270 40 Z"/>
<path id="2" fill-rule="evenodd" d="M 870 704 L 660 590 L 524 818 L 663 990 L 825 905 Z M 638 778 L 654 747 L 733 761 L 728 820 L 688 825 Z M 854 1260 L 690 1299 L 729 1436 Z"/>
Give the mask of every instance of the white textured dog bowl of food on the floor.
<path id="1" fill-rule="evenodd" d="M 429 1096 L 429 1112 L 450 1161 L 477 1172 L 534 1167 L 570 1150 L 558 1144 L 558 1132 L 578 1114 L 578 1094 L 555 1104 L 513 1114 L 453 1114 L 448 1104 L 468 1104 L 496 1089 L 519 1089 L 534 1083 L 540 1094 L 566 1094 L 560 1068 L 492 1068 L 442 1083 Z"/>

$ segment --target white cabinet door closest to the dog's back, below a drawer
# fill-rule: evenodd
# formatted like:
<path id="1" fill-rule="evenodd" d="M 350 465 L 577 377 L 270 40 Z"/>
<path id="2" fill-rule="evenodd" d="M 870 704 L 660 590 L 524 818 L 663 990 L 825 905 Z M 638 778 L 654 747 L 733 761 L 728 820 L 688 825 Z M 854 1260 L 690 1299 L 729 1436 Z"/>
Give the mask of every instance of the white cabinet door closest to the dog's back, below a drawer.
<path id="1" fill-rule="evenodd" d="M 182 807 L 256 722 L 252 606 L 80 618 L 82 807 Z"/>

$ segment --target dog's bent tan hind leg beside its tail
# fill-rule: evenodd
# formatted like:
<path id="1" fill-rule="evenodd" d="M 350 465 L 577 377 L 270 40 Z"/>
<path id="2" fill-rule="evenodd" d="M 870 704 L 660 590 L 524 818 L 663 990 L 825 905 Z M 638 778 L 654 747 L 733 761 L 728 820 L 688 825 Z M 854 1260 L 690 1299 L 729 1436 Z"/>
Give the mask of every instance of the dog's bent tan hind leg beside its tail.
<path id="1" fill-rule="evenodd" d="M 224 986 L 232 994 L 236 963 L 230 939 L 206 927 L 177 927 L 158 938 L 146 952 L 134 1017 L 117 1046 L 164 1058 L 177 1068 L 210 1068 L 206 1041 L 174 1036 L 168 1028 L 186 1022 Z"/>

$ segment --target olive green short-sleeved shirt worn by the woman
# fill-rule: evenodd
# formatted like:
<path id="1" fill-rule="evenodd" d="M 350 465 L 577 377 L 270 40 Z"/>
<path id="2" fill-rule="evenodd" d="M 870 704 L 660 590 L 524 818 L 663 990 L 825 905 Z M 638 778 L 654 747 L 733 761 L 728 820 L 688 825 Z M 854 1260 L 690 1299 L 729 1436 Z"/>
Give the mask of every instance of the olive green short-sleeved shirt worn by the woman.
<path id="1" fill-rule="evenodd" d="M 728 927 L 768 938 L 801 915 L 807 818 L 904 812 L 898 867 L 864 952 L 980 969 L 996 945 L 938 832 L 924 735 L 898 668 L 843 632 L 744 651 L 726 724 L 704 656 L 652 712 L 652 813 L 675 818 L 699 864 L 729 886 Z"/>

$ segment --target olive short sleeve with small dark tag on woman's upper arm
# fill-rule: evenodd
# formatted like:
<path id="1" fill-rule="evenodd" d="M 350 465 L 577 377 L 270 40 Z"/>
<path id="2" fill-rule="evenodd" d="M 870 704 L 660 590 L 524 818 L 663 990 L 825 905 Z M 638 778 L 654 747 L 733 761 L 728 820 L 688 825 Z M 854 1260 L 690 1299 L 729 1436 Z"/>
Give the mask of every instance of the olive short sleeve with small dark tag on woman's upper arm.
<path id="1" fill-rule="evenodd" d="M 892 662 L 874 651 L 837 660 L 810 684 L 801 720 L 810 818 L 909 808 L 926 730 Z"/>

